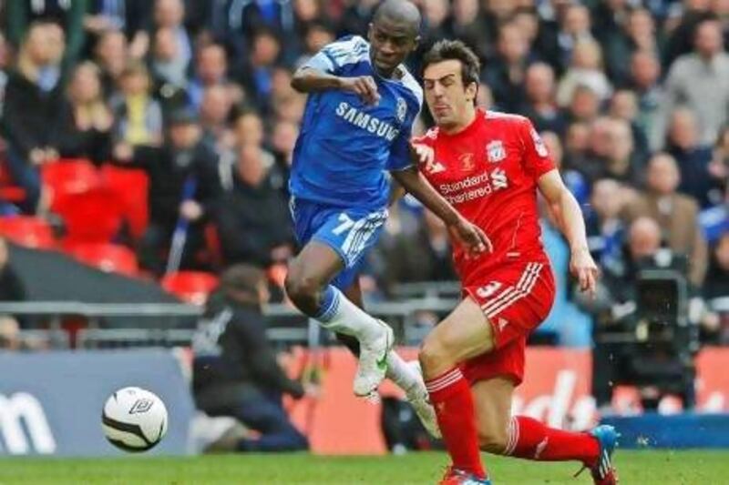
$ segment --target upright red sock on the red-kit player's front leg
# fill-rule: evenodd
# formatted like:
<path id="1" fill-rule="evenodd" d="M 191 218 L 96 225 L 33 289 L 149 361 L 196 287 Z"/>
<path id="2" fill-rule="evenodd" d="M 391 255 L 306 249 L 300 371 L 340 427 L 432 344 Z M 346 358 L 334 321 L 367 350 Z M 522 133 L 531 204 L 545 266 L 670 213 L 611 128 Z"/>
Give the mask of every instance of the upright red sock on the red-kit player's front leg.
<path id="1" fill-rule="evenodd" d="M 485 478 L 478 450 L 473 396 L 461 370 L 450 369 L 436 379 L 427 380 L 426 388 L 453 467 Z"/>

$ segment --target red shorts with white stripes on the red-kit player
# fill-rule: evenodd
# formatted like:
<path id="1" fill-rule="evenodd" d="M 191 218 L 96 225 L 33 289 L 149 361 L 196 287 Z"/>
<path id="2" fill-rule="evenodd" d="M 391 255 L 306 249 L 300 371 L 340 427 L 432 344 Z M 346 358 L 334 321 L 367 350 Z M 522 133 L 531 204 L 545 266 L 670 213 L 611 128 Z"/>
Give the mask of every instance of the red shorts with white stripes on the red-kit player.
<path id="1" fill-rule="evenodd" d="M 482 286 L 463 288 L 483 309 L 494 331 L 495 348 L 467 360 L 463 373 L 478 380 L 524 379 L 524 352 L 529 334 L 549 315 L 554 303 L 554 276 L 549 262 L 520 261 L 496 268 Z"/>

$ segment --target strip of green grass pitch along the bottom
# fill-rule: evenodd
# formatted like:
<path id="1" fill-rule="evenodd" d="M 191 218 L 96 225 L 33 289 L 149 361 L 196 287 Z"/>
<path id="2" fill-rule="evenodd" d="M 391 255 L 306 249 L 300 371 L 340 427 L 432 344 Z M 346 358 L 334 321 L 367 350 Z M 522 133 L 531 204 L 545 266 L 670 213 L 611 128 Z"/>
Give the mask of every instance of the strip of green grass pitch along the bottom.
<path id="1" fill-rule="evenodd" d="M 496 484 L 591 483 L 575 463 L 534 463 L 487 456 Z M 0 484 L 434 484 L 447 463 L 442 453 L 403 457 L 318 457 L 305 454 L 190 458 L 135 456 L 104 460 L 3 459 Z M 729 452 L 621 451 L 622 484 L 729 483 Z"/>

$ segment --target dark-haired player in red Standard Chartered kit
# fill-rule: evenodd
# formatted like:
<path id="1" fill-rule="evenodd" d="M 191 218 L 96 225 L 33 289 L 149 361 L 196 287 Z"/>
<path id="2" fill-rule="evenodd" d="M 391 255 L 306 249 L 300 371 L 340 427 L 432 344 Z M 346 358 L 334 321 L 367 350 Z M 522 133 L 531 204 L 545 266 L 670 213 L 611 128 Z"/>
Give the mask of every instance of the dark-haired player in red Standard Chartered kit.
<path id="1" fill-rule="evenodd" d="M 493 247 L 473 257 L 454 241 L 464 298 L 420 350 L 453 460 L 441 483 L 490 483 L 480 447 L 527 460 L 579 460 L 595 483 L 613 484 L 618 436 L 612 427 L 569 432 L 510 415 L 527 338 L 547 318 L 555 293 L 540 240 L 538 190 L 560 217 L 581 290 L 594 291 L 598 268 L 580 206 L 529 120 L 475 107 L 479 74 L 477 57 L 462 42 L 436 43 L 424 58 L 426 102 L 436 127 L 413 140 L 422 173 Z"/>

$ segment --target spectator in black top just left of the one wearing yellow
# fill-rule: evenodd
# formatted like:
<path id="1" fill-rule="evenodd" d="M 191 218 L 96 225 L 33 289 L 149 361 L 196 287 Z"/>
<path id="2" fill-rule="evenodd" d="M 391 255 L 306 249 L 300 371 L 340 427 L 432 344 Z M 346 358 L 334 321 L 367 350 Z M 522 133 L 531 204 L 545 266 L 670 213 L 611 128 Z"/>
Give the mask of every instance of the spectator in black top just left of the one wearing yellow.
<path id="1" fill-rule="evenodd" d="M 76 67 L 67 89 L 67 103 L 60 111 L 60 156 L 87 158 L 97 166 L 107 162 L 111 157 L 114 118 L 104 103 L 96 65 L 87 61 Z"/>

